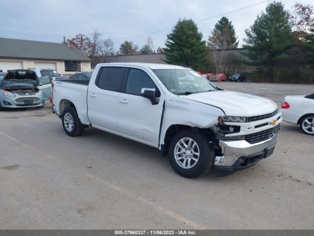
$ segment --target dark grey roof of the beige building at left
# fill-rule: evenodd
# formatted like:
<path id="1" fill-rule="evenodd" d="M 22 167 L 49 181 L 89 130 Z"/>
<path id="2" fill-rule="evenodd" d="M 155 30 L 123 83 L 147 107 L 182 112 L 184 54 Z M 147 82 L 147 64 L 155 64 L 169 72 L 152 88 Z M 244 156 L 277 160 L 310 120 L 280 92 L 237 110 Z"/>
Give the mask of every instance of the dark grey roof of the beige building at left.
<path id="1" fill-rule="evenodd" d="M 0 38 L 0 58 L 91 60 L 71 44 L 12 38 Z"/>

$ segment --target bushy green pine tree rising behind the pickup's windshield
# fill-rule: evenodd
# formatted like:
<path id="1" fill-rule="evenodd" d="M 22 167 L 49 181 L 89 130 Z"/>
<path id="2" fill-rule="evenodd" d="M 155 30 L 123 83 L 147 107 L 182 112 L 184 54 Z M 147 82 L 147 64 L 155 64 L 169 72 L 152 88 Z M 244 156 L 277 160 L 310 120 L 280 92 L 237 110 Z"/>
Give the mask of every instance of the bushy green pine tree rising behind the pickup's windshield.
<path id="1" fill-rule="evenodd" d="M 206 63 L 206 42 L 192 19 L 179 19 L 165 42 L 165 61 L 168 64 L 185 64 L 194 69 Z"/>

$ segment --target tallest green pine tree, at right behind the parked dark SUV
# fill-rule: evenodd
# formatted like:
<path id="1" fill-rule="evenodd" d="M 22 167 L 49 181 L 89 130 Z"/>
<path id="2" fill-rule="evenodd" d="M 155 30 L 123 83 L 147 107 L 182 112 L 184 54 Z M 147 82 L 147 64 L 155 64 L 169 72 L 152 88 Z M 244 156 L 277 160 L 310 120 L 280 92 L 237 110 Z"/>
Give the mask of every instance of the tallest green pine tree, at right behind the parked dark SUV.
<path id="1" fill-rule="evenodd" d="M 251 59 L 249 64 L 265 67 L 273 82 L 276 63 L 287 58 L 287 50 L 294 45 L 288 11 L 281 2 L 269 3 L 245 34 L 243 47 L 248 53 L 244 55 Z"/>

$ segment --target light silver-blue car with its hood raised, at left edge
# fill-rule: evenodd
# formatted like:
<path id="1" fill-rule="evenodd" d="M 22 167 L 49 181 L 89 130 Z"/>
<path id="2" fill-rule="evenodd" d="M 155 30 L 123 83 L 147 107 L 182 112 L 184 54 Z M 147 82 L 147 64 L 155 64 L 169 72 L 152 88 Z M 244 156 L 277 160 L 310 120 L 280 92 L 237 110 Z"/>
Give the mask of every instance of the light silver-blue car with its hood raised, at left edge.
<path id="1" fill-rule="evenodd" d="M 0 82 L 0 110 L 3 108 L 43 107 L 39 79 L 31 70 L 11 70 Z"/>

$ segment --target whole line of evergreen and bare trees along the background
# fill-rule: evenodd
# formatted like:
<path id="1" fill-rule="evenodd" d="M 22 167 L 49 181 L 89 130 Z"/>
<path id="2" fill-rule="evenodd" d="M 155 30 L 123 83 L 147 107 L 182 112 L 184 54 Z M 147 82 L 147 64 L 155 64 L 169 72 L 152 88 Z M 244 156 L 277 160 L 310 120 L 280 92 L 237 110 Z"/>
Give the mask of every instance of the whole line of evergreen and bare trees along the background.
<path id="1" fill-rule="evenodd" d="M 125 41 L 115 52 L 110 38 L 101 39 L 97 29 L 87 37 L 78 34 L 70 43 L 92 59 L 96 56 L 156 53 L 149 36 L 141 48 Z M 165 54 L 169 64 L 185 64 L 202 72 L 256 73 L 269 82 L 302 82 L 301 75 L 314 71 L 314 9 L 310 4 L 295 3 L 291 10 L 281 2 L 271 2 L 257 15 L 253 25 L 245 29 L 244 53 L 226 53 L 238 49 L 235 28 L 222 17 L 209 33 L 207 41 L 192 19 L 179 19 L 167 34 L 165 47 L 157 53 Z M 103 61 L 101 61 L 103 62 Z"/>

